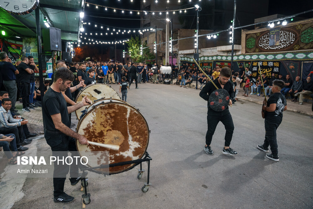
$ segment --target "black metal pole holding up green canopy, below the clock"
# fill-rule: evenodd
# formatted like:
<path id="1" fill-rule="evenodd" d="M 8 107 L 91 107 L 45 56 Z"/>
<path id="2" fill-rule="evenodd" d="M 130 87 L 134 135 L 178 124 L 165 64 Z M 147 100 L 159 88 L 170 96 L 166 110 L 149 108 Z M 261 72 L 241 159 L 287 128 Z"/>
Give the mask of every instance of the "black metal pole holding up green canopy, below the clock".
<path id="1" fill-rule="evenodd" d="M 44 92 L 44 75 L 43 75 L 43 71 L 42 71 L 41 31 L 40 31 L 40 21 L 39 21 L 40 20 L 39 7 L 37 7 L 35 9 L 35 18 L 36 18 L 36 36 L 37 36 L 37 52 L 38 52 L 39 85 L 40 85 L 39 90 L 40 90 L 41 94 L 43 94 L 43 92 Z"/>

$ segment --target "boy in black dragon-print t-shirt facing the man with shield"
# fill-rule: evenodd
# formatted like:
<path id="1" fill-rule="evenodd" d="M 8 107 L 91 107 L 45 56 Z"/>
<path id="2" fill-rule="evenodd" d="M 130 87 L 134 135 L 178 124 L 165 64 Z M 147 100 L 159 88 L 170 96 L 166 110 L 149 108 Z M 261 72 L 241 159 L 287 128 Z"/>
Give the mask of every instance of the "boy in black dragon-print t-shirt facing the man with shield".
<path id="1" fill-rule="evenodd" d="M 279 161 L 276 130 L 283 120 L 283 111 L 287 110 L 286 98 L 280 93 L 284 86 L 285 83 L 282 80 L 273 81 L 273 94 L 267 100 L 267 105 L 263 106 L 265 111 L 265 140 L 263 145 L 257 146 L 258 149 L 264 152 L 269 152 L 270 146 L 272 153 L 267 154 L 266 157 L 273 161 Z"/>

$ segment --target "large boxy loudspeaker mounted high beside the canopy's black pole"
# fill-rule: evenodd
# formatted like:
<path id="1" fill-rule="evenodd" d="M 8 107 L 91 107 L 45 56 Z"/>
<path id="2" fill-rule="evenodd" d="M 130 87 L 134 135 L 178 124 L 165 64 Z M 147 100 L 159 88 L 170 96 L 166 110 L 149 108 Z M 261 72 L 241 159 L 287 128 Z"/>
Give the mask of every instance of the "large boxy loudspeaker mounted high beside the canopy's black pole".
<path id="1" fill-rule="evenodd" d="M 44 51 L 62 51 L 61 30 L 58 28 L 43 28 L 42 37 Z"/>

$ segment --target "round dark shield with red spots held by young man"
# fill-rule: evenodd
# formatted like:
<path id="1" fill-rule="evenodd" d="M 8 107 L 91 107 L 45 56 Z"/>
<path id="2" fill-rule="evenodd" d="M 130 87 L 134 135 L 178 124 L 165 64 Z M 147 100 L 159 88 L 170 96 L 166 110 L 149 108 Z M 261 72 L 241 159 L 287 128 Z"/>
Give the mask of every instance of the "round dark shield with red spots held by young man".
<path id="1" fill-rule="evenodd" d="M 225 110 L 229 104 L 228 92 L 225 89 L 216 89 L 209 97 L 209 104 L 214 111 Z"/>

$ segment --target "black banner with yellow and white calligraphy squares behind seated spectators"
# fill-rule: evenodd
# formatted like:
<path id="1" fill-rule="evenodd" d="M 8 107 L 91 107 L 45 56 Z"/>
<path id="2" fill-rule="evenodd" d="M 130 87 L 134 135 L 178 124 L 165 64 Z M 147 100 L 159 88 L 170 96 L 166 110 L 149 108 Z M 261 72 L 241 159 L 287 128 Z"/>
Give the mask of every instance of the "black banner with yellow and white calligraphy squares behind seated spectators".
<path id="1" fill-rule="evenodd" d="M 260 64 L 260 68 L 261 68 L 261 74 L 265 73 L 265 77 L 266 78 L 271 78 L 272 77 L 272 73 L 275 73 L 275 76 L 278 77 L 279 74 L 279 70 L 280 70 L 280 62 L 252 62 L 252 78 L 257 79 L 258 76 L 260 76 L 259 73 L 259 65 Z"/>

